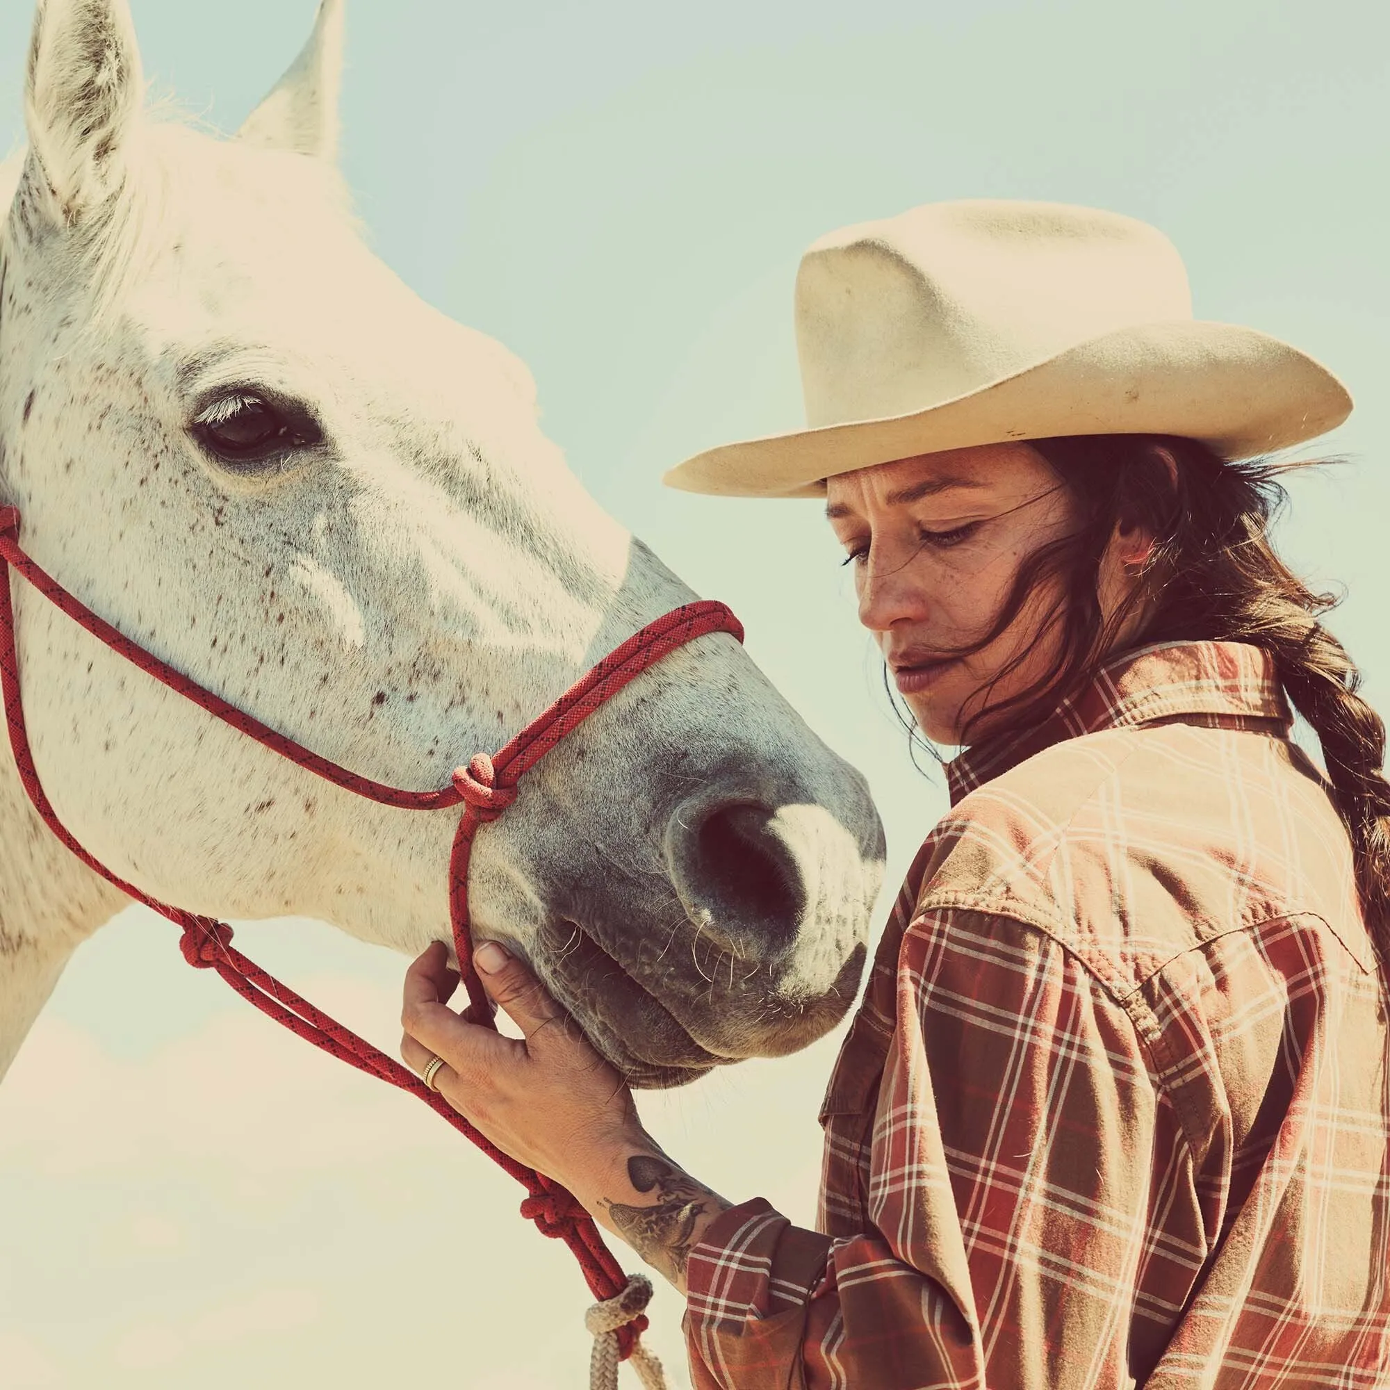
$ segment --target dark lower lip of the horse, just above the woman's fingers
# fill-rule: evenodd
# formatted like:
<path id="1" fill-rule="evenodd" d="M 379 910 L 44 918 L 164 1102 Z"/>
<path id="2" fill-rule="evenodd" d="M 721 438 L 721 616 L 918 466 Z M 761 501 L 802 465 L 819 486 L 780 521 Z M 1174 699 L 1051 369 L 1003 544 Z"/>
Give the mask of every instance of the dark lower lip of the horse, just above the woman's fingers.
<path id="1" fill-rule="evenodd" d="M 737 1061 L 696 1042 L 685 1024 L 573 919 L 543 927 L 535 947 L 552 994 L 630 1086 L 685 1086 Z"/>

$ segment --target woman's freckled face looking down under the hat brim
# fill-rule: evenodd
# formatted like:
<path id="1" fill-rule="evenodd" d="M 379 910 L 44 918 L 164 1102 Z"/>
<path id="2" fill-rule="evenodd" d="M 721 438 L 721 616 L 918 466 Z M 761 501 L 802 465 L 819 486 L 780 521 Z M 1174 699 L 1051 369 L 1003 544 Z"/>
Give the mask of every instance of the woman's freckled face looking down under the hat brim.
<path id="1" fill-rule="evenodd" d="M 1059 595 L 1045 584 L 992 642 L 951 655 L 991 630 L 1019 566 L 1076 528 L 1069 491 L 1036 449 L 981 445 L 841 474 L 827 481 L 826 514 L 853 567 L 859 620 L 929 738 L 959 744 L 1051 669 Z M 990 733 L 987 717 L 976 733 Z"/>

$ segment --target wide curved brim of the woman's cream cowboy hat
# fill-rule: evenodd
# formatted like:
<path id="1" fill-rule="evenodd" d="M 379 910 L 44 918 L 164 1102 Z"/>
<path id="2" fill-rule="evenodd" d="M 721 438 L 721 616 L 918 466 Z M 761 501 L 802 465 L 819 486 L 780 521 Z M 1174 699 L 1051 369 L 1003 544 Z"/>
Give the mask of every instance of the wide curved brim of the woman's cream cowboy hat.
<path id="1" fill-rule="evenodd" d="M 716 496 L 812 498 L 828 477 L 892 459 L 1058 435 L 1182 435 L 1248 459 L 1326 434 L 1350 413 L 1346 386 L 1297 348 L 1184 320 L 1093 338 L 912 414 L 706 449 L 662 481 Z"/>

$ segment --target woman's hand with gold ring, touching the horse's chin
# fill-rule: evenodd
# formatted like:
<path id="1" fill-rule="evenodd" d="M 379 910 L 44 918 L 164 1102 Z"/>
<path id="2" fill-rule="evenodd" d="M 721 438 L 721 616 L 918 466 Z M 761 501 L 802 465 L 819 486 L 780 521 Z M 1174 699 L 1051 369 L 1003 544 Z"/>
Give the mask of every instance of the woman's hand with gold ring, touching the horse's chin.
<path id="1" fill-rule="evenodd" d="M 493 941 L 473 959 L 524 1038 L 466 1023 L 448 1006 L 459 976 L 435 941 L 406 974 L 400 1055 L 416 1072 L 442 1058 L 434 1084 L 445 1099 L 498 1148 L 582 1201 L 585 1190 L 610 1184 L 630 1154 L 655 1147 L 632 1093 L 520 960 Z"/>

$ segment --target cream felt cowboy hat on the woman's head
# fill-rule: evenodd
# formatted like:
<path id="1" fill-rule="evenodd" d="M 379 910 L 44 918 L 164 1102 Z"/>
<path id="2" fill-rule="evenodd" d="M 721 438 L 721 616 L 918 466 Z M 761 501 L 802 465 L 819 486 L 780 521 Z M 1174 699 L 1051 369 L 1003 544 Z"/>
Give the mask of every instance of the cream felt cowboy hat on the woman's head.
<path id="1" fill-rule="evenodd" d="M 890 459 L 1076 434 L 1247 459 L 1351 413 L 1312 357 L 1194 320 L 1161 232 L 1059 203 L 929 203 L 823 236 L 796 275 L 796 349 L 810 428 L 708 449 L 670 486 L 816 496 Z"/>

